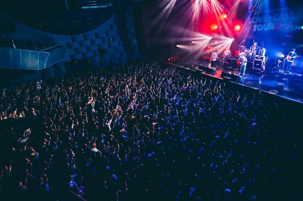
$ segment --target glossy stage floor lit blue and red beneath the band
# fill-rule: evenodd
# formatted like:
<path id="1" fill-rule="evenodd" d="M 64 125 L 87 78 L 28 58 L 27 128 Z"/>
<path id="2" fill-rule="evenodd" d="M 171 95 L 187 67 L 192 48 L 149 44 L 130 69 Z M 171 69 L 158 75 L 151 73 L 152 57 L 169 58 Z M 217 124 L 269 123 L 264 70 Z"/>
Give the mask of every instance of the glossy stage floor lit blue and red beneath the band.
<path id="1" fill-rule="evenodd" d="M 181 66 L 183 68 L 196 70 L 199 65 L 209 66 L 209 62 L 202 60 L 178 60 L 173 64 Z M 278 96 L 282 96 L 294 101 L 303 103 L 303 77 L 299 75 L 285 75 L 277 73 L 276 69 L 267 69 L 265 73 L 251 69 L 248 65 L 245 72 L 245 77 L 241 78 L 237 83 L 253 88 L 258 88 L 262 91 L 267 91 Z M 239 73 L 237 67 L 216 63 L 216 71 L 208 75 L 212 75 L 221 78 L 221 72 L 233 72 Z"/>

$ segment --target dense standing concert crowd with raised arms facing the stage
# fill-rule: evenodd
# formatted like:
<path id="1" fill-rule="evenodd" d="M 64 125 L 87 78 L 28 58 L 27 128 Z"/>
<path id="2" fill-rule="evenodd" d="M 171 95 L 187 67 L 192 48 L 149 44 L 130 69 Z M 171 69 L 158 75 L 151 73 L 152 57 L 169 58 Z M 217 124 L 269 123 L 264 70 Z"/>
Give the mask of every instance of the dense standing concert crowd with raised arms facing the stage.
<path id="1" fill-rule="evenodd" d="M 3 88 L 1 122 L 28 119 L 33 132 L 25 150 L 2 161 L 0 194 L 299 200 L 302 118 L 280 107 L 143 62 Z M 2 140 L 17 138 L 14 129 L 1 128 Z"/>

